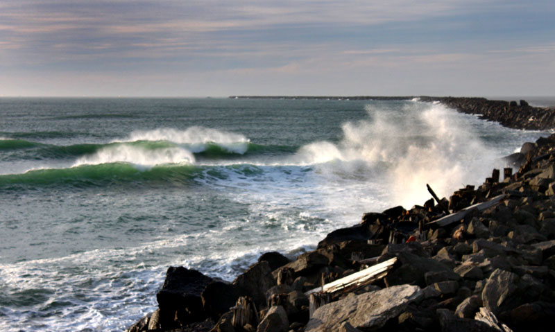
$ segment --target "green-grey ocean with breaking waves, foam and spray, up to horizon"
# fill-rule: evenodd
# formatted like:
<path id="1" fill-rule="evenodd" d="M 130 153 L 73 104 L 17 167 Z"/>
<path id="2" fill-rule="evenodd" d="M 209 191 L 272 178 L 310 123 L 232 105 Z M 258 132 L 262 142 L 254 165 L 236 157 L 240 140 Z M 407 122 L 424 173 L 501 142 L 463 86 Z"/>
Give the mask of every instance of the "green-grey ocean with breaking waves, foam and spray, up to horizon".
<path id="1" fill-rule="evenodd" d="M 546 134 L 418 99 L 0 98 L 0 331 L 123 331 L 170 265 L 231 281 Z"/>

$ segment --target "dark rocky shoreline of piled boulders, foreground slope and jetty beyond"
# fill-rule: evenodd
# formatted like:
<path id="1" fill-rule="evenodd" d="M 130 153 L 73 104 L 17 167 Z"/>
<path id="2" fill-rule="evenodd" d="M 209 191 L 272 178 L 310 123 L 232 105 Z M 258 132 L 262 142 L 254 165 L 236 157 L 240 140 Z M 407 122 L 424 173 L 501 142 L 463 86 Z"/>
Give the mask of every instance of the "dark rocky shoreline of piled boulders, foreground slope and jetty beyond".
<path id="1" fill-rule="evenodd" d="M 553 121 L 553 110 L 530 121 L 525 102 L 422 98 L 517 128 Z M 365 213 L 295 261 L 263 254 L 232 283 L 170 267 L 157 311 L 128 331 L 552 331 L 555 134 L 509 159 L 515 174 Z"/>

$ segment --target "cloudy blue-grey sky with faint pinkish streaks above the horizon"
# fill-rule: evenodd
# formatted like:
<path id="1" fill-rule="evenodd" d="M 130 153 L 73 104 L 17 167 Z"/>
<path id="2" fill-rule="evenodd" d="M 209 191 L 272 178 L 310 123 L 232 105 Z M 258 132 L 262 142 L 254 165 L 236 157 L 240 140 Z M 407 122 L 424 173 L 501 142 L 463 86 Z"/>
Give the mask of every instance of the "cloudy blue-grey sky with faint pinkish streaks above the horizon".
<path id="1" fill-rule="evenodd" d="M 1 0 L 0 96 L 555 96 L 553 0 Z"/>

